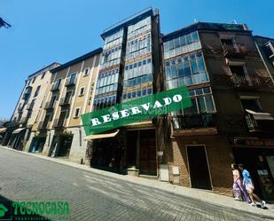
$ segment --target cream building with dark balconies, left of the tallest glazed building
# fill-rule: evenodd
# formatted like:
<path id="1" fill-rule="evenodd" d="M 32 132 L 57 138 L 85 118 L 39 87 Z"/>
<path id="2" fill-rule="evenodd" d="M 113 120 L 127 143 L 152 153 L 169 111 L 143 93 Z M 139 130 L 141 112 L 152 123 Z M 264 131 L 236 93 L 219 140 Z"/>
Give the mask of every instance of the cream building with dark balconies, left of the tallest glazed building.
<path id="1" fill-rule="evenodd" d="M 65 157 L 83 163 L 86 152 L 81 114 L 91 111 L 101 48 L 51 70 L 51 88 L 39 123 L 33 130 L 30 152 Z"/>

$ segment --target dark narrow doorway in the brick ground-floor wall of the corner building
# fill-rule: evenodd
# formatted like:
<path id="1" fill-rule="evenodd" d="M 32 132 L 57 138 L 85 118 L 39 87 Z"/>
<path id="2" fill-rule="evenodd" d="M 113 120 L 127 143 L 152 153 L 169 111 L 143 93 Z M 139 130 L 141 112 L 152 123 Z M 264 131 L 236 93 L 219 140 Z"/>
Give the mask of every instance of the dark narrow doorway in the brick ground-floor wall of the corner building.
<path id="1" fill-rule="evenodd" d="M 187 146 L 192 187 L 211 190 L 205 146 Z"/>

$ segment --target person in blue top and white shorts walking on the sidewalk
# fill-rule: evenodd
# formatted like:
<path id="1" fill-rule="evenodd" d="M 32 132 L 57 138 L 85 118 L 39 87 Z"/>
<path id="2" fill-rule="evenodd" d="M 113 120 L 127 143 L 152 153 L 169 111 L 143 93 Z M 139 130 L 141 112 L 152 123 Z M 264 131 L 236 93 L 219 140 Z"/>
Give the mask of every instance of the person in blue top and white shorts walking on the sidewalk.
<path id="1" fill-rule="evenodd" d="M 241 171 L 242 173 L 242 176 L 243 176 L 243 185 L 245 185 L 246 189 L 247 189 L 247 193 L 250 197 L 250 200 L 251 200 L 251 203 L 250 205 L 251 206 L 256 206 L 256 203 L 254 200 L 256 201 L 259 201 L 261 203 L 261 208 L 265 208 L 266 207 L 266 203 L 265 201 L 262 201 L 260 199 L 259 196 L 257 196 L 255 193 L 254 193 L 254 184 L 253 184 L 253 181 L 252 179 L 250 178 L 250 173 L 249 171 L 245 170 L 244 169 L 244 165 L 239 163 L 238 165 L 239 167 L 239 170 Z"/>

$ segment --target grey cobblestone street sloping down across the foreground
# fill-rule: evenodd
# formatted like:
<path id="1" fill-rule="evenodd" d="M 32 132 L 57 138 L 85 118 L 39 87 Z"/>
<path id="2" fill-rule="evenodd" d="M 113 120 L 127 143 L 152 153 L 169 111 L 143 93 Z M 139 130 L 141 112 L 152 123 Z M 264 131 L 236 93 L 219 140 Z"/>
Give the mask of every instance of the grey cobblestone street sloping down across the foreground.
<path id="1" fill-rule="evenodd" d="M 2 148 L 0 188 L 12 201 L 69 201 L 71 220 L 270 220 Z"/>

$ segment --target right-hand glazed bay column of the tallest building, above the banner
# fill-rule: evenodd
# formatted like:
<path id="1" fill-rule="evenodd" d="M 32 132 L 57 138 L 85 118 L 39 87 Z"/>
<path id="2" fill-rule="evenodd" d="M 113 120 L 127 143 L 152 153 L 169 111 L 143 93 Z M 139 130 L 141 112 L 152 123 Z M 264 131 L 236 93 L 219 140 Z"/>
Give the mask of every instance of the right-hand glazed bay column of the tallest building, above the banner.
<path id="1" fill-rule="evenodd" d="M 128 28 L 123 81 L 123 101 L 153 93 L 151 16 Z"/>

